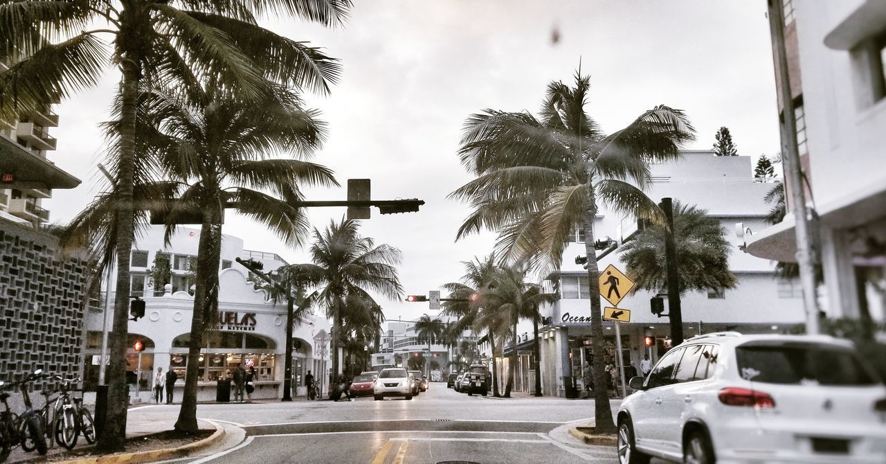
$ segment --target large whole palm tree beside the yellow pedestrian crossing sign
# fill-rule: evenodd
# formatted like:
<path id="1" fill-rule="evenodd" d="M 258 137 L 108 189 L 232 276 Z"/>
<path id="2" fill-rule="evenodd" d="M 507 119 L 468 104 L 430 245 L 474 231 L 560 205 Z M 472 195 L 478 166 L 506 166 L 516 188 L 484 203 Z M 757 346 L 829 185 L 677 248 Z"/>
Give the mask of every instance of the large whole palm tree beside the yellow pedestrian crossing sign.
<path id="1" fill-rule="evenodd" d="M 579 72 L 575 85 L 548 84 L 540 118 L 528 112 L 487 109 L 465 122 L 459 154 L 476 176 L 450 194 L 470 202 L 473 211 L 456 240 L 481 229 L 499 232 L 496 249 L 509 262 L 529 260 L 547 274 L 562 263 L 569 232 L 585 233 L 591 295 L 599 293 L 594 221 L 598 201 L 617 212 L 660 217 L 643 188 L 649 161 L 679 157 L 680 144 L 693 137 L 686 116 L 656 106 L 609 136 L 585 112 L 589 77 Z M 590 299 L 591 334 L 602 340 L 599 298 Z M 602 385 L 602 343 L 593 347 L 594 377 Z M 609 397 L 595 391 L 596 427 L 614 432 Z"/>

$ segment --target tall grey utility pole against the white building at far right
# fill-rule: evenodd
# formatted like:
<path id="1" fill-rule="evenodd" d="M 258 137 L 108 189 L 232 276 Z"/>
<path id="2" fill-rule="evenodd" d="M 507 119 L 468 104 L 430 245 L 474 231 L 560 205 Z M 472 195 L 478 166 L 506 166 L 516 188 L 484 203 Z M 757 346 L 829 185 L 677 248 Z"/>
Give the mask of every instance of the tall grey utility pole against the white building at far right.
<path id="1" fill-rule="evenodd" d="M 794 98 L 790 90 L 788 55 L 784 44 L 784 11 L 781 0 L 769 0 L 769 28 L 773 35 L 776 70 L 781 84 L 781 149 L 784 156 L 785 187 L 790 185 L 791 212 L 794 213 L 794 232 L 797 235 L 797 264 L 803 286 L 803 305 L 806 311 L 806 334 L 819 334 L 819 307 L 815 299 L 815 268 L 812 254 L 812 231 L 806 211 L 803 191 L 800 153 L 797 148 L 797 122 L 794 120 Z M 788 184 L 789 182 L 789 184 Z M 673 320 L 673 319 L 672 319 Z"/>

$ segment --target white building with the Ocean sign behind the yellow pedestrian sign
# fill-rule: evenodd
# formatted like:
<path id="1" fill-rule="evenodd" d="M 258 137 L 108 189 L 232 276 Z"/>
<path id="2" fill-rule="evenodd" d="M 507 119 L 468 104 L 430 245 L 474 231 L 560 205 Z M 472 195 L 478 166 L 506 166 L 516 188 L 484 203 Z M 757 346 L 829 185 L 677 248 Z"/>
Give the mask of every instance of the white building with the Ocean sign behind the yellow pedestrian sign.
<path id="1" fill-rule="evenodd" d="M 742 252 L 740 247 L 744 241 L 734 232 L 765 227 L 769 205 L 763 198 L 773 184 L 755 182 L 748 156 L 714 156 L 710 150 L 682 154 L 679 161 L 650 166 L 654 183 L 647 194 L 655 200 L 671 197 L 683 204 L 695 204 L 718 218 L 727 230 L 727 238 L 733 240 L 729 268 L 738 280 L 734 289 L 722 293 L 688 292 L 681 297 L 684 336 L 724 330 L 781 333 L 802 323 L 804 311 L 799 283 L 776 278 L 773 261 Z M 608 237 L 618 246 L 629 240 L 636 229 L 636 220 L 632 217 L 620 216 L 605 208 L 595 220 L 596 239 Z M 564 385 L 570 383 L 581 389 L 583 366 L 591 360 L 590 347 L 595 340 L 590 335 L 589 298 L 600 296 L 588 295 L 587 271 L 574 262 L 576 256 L 584 255 L 584 236 L 576 232 L 563 252 L 557 276 L 561 299 L 542 309 L 545 324 L 540 327 L 540 369 L 545 395 L 562 397 Z M 626 272 L 619 256 L 618 248 L 602 256 L 598 261 L 600 270 L 613 264 Z M 549 282 L 548 291 L 553 291 Z M 631 322 L 620 327 L 626 366 L 639 367 L 644 355 L 655 361 L 670 349 L 669 320 L 658 318 L 649 308 L 649 300 L 655 295 L 655 292 L 635 291 L 618 304 L 619 308 L 631 311 Z M 611 306 L 601 301 L 604 307 Z M 606 335 L 602 343 L 609 353 L 607 362 L 615 362 L 614 323 L 604 322 L 603 331 Z M 520 342 L 515 388 L 530 391 L 534 386 L 531 321 L 520 321 L 517 334 Z M 643 346 L 647 335 L 656 340 L 649 348 Z M 510 345 L 505 346 L 505 355 L 511 352 Z M 506 368 L 507 359 L 501 363 L 502 373 Z"/>

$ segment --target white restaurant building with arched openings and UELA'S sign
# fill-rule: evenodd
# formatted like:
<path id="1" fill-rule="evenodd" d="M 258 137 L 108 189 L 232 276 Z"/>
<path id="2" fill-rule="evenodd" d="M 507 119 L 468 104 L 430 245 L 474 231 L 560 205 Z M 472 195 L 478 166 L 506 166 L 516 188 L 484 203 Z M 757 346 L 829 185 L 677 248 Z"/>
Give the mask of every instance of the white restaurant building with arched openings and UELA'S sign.
<path id="1" fill-rule="evenodd" d="M 152 226 L 133 244 L 132 292 L 144 299 L 145 315 L 129 321 L 127 370 L 130 383 L 139 384 L 145 397 L 149 396 L 151 373 L 162 367 L 164 372 L 172 368 L 179 375 L 175 397 L 181 398 L 194 304 L 192 263 L 196 263 L 199 238 L 199 230 L 180 227 L 169 245 L 164 245 L 162 227 Z M 256 368 L 253 397 L 283 397 L 287 305 L 274 302 L 257 288 L 249 271 L 236 262 L 237 257 L 260 261 L 265 271 L 286 264 L 274 253 L 245 250 L 243 240 L 222 236 L 218 327 L 209 335 L 208 346 L 199 358 L 198 400 L 214 399 L 217 381 L 230 378 L 237 366 Z M 168 265 L 165 275 L 156 271 L 163 263 Z M 165 281 L 156 280 L 160 278 Z M 110 281 L 115 280 L 112 274 Z M 113 301 L 113 292 L 111 297 Z M 90 311 L 86 320 L 83 368 L 89 386 L 98 380 L 103 314 Z M 307 371 L 316 379 L 326 378 L 321 373 L 330 366 L 329 334 L 330 325 L 323 316 L 308 315 L 294 326 L 292 381 L 298 387 L 296 395 L 307 394 Z M 144 345 L 141 353 L 133 348 L 136 340 Z"/>

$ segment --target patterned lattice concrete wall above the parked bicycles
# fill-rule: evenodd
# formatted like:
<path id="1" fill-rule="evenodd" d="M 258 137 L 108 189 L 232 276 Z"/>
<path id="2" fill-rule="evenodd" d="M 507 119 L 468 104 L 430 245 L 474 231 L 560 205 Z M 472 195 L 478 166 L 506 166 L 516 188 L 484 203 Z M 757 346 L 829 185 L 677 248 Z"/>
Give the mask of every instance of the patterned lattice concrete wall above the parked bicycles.
<path id="1" fill-rule="evenodd" d="M 50 235 L 0 218 L 2 380 L 38 368 L 63 377 L 80 371 L 85 267 L 55 249 Z"/>

